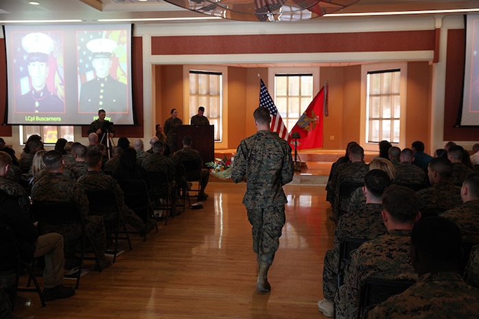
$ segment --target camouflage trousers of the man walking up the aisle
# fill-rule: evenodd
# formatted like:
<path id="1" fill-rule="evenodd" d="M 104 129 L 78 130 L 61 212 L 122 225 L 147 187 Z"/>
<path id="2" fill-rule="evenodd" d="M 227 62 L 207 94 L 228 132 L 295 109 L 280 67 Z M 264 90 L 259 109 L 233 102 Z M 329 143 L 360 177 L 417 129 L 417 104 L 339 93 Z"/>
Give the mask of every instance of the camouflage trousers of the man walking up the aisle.
<path id="1" fill-rule="evenodd" d="M 285 224 L 284 211 L 284 205 L 248 209 L 248 221 L 253 226 L 253 251 L 258 255 L 259 261 L 272 263 Z"/>

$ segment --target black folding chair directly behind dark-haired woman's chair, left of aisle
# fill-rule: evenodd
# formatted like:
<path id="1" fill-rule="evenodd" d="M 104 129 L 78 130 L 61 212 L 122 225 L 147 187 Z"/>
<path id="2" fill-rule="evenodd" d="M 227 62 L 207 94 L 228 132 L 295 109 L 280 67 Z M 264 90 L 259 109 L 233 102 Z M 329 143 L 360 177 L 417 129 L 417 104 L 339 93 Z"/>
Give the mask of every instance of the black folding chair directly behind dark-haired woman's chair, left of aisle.
<path id="1" fill-rule="evenodd" d="M 115 240 L 115 250 L 113 252 L 113 263 L 117 260 L 118 240 L 128 240 L 128 247 L 132 250 L 130 235 L 128 229 L 121 218 L 117 198 L 113 191 L 86 191 L 89 202 L 89 215 L 103 216 L 106 236 Z M 125 236 L 119 237 L 119 228 L 123 228 Z M 111 236 L 113 231 L 113 237 Z"/>

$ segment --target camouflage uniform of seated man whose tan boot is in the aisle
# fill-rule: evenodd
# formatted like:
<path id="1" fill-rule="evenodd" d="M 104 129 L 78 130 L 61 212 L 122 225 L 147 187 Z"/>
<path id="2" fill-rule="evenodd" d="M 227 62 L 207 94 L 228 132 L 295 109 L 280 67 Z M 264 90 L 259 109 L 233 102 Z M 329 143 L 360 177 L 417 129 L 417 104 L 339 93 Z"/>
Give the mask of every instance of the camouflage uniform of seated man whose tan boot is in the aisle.
<path id="1" fill-rule="evenodd" d="M 369 203 L 360 211 L 342 215 L 334 231 L 334 248 L 325 255 L 323 295 L 333 300 L 336 294 L 340 246 L 344 238 L 373 239 L 388 231 L 382 220 L 382 204 Z"/>

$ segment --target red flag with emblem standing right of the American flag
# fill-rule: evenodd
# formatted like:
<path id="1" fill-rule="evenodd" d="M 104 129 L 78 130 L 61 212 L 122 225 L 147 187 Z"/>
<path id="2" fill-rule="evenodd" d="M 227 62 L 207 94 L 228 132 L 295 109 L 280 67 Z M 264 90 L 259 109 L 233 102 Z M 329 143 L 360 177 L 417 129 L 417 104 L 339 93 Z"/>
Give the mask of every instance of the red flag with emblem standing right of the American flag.
<path id="1" fill-rule="evenodd" d="M 323 147 L 323 113 L 327 110 L 327 90 L 326 83 L 290 132 L 291 136 L 294 132 L 298 132 L 301 136 L 301 139 L 298 139 L 298 150 Z M 294 140 L 290 141 L 293 149 Z"/>

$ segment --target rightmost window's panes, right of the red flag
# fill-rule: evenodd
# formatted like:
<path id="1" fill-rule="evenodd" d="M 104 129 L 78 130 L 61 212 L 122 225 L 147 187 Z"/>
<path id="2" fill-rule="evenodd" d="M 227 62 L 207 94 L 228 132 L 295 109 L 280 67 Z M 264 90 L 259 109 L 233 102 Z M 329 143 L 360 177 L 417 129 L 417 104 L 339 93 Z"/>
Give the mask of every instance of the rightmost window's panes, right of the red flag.
<path id="1" fill-rule="evenodd" d="M 399 143 L 401 70 L 369 71 L 366 77 L 366 141 Z"/>

